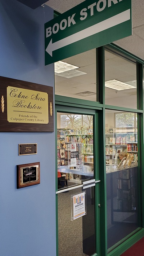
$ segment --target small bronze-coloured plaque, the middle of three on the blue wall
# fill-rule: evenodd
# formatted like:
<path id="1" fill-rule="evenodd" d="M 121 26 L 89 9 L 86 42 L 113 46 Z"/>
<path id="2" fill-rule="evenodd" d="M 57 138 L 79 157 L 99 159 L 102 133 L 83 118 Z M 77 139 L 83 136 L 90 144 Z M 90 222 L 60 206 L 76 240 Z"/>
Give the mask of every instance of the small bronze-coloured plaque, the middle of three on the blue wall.
<path id="1" fill-rule="evenodd" d="M 37 154 L 37 143 L 35 144 L 19 144 L 19 155 Z"/>

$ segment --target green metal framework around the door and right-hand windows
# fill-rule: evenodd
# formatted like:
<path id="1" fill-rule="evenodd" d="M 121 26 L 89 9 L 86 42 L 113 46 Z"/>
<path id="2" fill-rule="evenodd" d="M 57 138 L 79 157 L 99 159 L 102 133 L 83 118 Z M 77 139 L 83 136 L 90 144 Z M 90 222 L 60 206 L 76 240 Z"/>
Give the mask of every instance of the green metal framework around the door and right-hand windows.
<path id="1" fill-rule="evenodd" d="M 111 106 L 105 105 L 105 61 L 104 61 L 104 50 L 109 50 L 113 53 L 119 54 L 122 57 L 127 58 L 131 62 L 136 63 L 136 71 L 137 71 L 137 109 L 129 109 L 125 107 Z M 96 159 L 94 164 L 96 164 L 96 168 L 100 169 L 99 179 L 100 184 L 96 185 L 95 193 L 98 195 L 98 190 L 100 186 L 100 213 L 98 209 L 98 201 L 96 200 L 95 214 L 98 216 L 100 214 L 100 228 L 98 227 L 97 234 L 97 243 L 102 244 L 101 246 L 101 255 L 102 256 L 118 256 L 121 255 L 125 250 L 127 250 L 132 244 L 137 242 L 140 238 L 144 236 L 144 89 L 143 89 L 143 65 L 144 61 L 133 54 L 123 50 L 122 48 L 114 45 L 113 43 L 106 45 L 105 47 L 100 47 L 96 49 L 96 84 L 99 84 L 99 87 L 96 88 L 96 97 L 97 102 L 94 101 L 86 101 L 80 100 L 77 98 L 70 98 L 65 96 L 55 95 L 55 104 L 56 111 L 60 112 L 74 112 L 80 114 L 93 114 L 94 110 L 98 110 L 99 115 L 99 124 L 95 122 L 94 126 L 98 131 L 99 128 L 99 136 L 98 139 L 94 140 L 94 152 L 98 152 L 96 154 Z M 106 198 L 106 171 L 105 171 L 105 109 L 117 110 L 117 111 L 125 111 L 125 112 L 134 112 L 137 113 L 138 116 L 138 189 L 139 189 L 139 226 L 138 228 L 131 234 L 129 234 L 126 238 L 122 239 L 115 246 L 111 247 L 107 250 L 107 198 Z M 57 120 L 57 116 L 55 118 Z M 56 122 L 57 124 L 57 122 Z M 98 125 L 98 126 L 97 126 Z M 57 125 L 56 125 L 57 130 Z M 97 135 L 97 134 L 96 134 Z M 95 136 L 96 137 L 96 136 Z M 57 134 L 55 136 L 57 141 Z M 99 145 L 99 147 L 98 147 Z M 57 151 L 56 151 L 56 159 L 57 159 Z M 56 164 L 57 166 L 57 164 Z M 57 174 L 57 169 L 56 169 Z M 57 176 L 56 176 L 57 177 Z M 96 177 L 98 178 L 98 177 Z M 56 178 L 57 185 L 57 178 Z M 96 198 L 96 197 L 95 197 Z M 56 196 L 57 203 L 57 196 Z M 57 216 L 58 217 L 58 216 Z M 58 224 L 58 223 L 56 223 Z M 57 239 L 58 239 L 58 230 L 57 230 Z M 100 239 L 103 243 L 100 243 Z M 117 246 L 117 247 L 116 247 Z M 116 248 L 115 248 L 116 247 Z M 58 249 L 58 243 L 57 243 Z M 96 254 L 95 254 L 96 255 Z M 58 251 L 57 251 L 58 256 Z"/>

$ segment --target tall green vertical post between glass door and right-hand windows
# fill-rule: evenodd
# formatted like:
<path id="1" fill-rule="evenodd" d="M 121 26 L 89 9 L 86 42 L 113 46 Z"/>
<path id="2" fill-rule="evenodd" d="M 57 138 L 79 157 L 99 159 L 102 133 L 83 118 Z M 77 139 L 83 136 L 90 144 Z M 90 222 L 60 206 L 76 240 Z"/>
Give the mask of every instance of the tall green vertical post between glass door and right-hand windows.
<path id="1" fill-rule="evenodd" d="M 97 100 L 103 104 L 99 112 L 99 155 L 100 155 L 100 201 L 101 201 L 101 247 L 102 255 L 107 252 L 107 191 L 106 191 L 106 169 L 105 169 L 105 72 L 104 72 L 104 47 L 96 49 L 96 84 L 99 84 Z M 98 89 L 97 89 L 98 90 Z"/>

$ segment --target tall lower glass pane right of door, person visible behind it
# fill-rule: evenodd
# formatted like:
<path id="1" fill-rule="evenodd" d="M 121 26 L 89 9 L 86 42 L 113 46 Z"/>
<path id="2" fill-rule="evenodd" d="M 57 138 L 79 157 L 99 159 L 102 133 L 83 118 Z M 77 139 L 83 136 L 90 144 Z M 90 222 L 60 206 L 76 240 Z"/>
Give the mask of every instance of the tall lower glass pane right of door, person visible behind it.
<path id="1" fill-rule="evenodd" d="M 108 248 L 138 228 L 137 114 L 105 111 Z"/>

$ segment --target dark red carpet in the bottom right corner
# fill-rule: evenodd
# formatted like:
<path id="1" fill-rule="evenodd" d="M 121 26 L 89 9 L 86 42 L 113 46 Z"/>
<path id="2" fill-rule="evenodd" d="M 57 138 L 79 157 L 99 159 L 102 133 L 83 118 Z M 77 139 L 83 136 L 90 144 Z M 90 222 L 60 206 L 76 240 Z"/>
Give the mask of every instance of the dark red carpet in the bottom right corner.
<path id="1" fill-rule="evenodd" d="M 131 246 L 127 251 L 121 254 L 121 256 L 144 256 L 144 237 L 137 243 Z"/>

